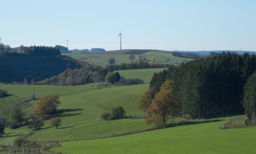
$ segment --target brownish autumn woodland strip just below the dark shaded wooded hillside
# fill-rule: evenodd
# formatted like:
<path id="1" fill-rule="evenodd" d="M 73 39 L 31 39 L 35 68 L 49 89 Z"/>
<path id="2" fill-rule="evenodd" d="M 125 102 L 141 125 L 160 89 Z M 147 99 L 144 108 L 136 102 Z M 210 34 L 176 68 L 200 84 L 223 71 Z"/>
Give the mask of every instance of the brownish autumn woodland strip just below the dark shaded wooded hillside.
<path id="1" fill-rule="evenodd" d="M 52 84 L 61 86 L 74 86 L 79 84 L 89 84 L 92 82 L 104 82 L 108 70 L 100 66 L 86 66 L 79 69 L 67 69 L 63 73 L 36 82 L 36 84 Z"/>

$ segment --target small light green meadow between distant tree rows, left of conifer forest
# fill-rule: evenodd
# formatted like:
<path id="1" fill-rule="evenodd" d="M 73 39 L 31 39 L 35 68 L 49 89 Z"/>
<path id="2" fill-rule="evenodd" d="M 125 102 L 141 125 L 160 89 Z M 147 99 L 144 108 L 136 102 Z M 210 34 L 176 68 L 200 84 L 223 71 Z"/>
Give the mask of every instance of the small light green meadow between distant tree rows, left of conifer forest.
<path id="1" fill-rule="evenodd" d="M 155 72 L 160 72 L 164 68 L 149 68 L 149 69 L 135 69 L 135 70 L 118 70 L 121 76 L 125 79 L 140 78 L 144 83 L 150 82 Z"/>

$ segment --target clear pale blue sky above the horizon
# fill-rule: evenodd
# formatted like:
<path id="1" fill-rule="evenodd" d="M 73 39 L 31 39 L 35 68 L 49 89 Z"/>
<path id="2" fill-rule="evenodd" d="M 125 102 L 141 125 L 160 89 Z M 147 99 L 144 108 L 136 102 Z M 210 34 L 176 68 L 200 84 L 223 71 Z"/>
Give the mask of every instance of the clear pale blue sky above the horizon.
<path id="1" fill-rule="evenodd" d="M 255 0 L 0 0 L 1 42 L 69 49 L 256 51 Z"/>

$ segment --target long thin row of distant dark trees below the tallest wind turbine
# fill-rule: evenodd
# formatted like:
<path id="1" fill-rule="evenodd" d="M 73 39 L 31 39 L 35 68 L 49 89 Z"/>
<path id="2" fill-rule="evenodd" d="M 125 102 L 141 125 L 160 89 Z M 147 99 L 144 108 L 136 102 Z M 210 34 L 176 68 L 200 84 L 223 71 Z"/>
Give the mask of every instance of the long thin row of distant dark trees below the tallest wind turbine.
<path id="1" fill-rule="evenodd" d="M 167 68 L 170 65 L 161 63 L 148 63 L 148 61 L 137 61 L 136 63 L 121 63 L 107 65 L 106 70 L 132 70 L 132 69 L 143 69 L 143 68 Z"/>

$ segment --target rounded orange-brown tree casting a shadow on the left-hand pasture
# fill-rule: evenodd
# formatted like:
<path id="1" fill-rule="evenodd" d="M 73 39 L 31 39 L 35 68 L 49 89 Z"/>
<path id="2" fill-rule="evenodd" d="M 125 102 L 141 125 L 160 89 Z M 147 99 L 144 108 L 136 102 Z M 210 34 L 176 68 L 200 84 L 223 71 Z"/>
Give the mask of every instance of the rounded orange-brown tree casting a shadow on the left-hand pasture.
<path id="1" fill-rule="evenodd" d="M 36 108 L 33 111 L 33 116 L 39 119 L 44 119 L 46 115 L 52 114 L 60 105 L 59 96 L 56 94 L 47 95 L 40 98 Z"/>

